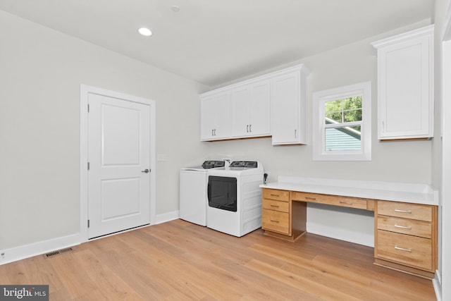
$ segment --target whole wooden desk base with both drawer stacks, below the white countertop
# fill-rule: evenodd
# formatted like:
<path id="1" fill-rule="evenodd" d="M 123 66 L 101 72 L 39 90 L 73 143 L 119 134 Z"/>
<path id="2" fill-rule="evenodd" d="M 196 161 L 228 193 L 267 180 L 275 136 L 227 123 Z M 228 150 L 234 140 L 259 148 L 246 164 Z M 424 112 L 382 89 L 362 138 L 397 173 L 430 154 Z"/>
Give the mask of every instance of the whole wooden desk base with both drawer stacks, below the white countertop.
<path id="1" fill-rule="evenodd" d="M 294 241 L 307 232 L 307 203 L 374 211 L 374 264 L 434 278 L 437 206 L 263 188 L 266 235 Z"/>

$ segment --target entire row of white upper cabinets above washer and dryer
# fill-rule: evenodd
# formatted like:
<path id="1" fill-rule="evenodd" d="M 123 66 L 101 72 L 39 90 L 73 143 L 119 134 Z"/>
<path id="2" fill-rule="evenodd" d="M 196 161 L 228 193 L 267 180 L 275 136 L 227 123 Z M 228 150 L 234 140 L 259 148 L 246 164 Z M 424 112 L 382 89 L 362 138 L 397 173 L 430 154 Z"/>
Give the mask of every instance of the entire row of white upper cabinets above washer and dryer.
<path id="1" fill-rule="evenodd" d="M 273 145 L 306 144 L 308 74 L 301 64 L 201 94 L 201 140 L 272 136 Z M 217 118 L 220 125 L 228 118 L 228 135 Z"/>

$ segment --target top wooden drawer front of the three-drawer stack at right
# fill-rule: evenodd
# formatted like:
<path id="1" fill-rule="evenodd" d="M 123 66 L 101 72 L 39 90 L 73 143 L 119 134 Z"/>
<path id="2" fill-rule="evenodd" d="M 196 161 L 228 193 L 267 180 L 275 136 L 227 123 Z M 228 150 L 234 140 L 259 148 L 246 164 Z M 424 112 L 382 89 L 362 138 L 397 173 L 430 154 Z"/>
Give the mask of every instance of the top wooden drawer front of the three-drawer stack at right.
<path id="1" fill-rule="evenodd" d="M 432 221 L 432 207 L 428 205 L 378 201 L 378 214 Z"/>

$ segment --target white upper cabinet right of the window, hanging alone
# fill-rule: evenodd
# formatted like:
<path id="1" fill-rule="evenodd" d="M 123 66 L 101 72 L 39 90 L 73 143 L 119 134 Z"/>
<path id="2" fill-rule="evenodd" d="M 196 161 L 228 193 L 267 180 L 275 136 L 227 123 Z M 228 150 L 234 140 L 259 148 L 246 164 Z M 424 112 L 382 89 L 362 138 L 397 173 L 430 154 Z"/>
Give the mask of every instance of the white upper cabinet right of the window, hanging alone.
<path id="1" fill-rule="evenodd" d="M 378 56 L 378 139 L 433 137 L 433 25 L 372 43 Z"/>

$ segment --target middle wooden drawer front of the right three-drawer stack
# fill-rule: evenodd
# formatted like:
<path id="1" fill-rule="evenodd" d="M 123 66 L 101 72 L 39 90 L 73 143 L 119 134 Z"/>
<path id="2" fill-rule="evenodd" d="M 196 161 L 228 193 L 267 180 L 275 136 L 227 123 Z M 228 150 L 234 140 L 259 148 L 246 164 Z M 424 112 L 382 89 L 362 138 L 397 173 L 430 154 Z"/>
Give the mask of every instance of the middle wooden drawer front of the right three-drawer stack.
<path id="1" fill-rule="evenodd" d="M 400 219 L 392 216 L 378 216 L 378 229 L 421 236 L 422 238 L 432 238 L 432 224 L 428 221 Z"/>

